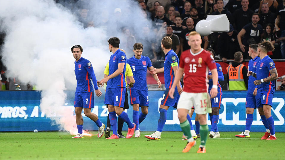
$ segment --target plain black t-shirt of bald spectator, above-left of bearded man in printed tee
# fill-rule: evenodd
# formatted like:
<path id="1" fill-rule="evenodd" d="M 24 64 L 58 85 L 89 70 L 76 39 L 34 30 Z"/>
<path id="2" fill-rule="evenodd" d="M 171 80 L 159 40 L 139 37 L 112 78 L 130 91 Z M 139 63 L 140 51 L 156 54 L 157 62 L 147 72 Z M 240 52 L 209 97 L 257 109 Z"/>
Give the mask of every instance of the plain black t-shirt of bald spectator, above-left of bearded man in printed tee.
<path id="1" fill-rule="evenodd" d="M 234 23 L 235 23 L 235 28 L 237 29 L 237 31 L 239 32 L 241 29 L 243 29 L 243 27 L 248 24 L 251 23 L 251 17 L 252 14 L 254 12 L 251 9 L 247 9 L 246 12 L 243 11 L 242 8 L 237 9 L 234 14 L 232 15 L 233 19 L 234 19 Z"/>

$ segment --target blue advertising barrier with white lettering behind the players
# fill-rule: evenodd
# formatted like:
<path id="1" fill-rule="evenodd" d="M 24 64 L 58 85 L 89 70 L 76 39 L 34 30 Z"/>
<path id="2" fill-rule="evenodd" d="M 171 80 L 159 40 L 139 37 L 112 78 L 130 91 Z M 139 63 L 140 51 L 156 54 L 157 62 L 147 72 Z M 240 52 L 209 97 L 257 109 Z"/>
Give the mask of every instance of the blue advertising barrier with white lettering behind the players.
<path id="1" fill-rule="evenodd" d="M 74 110 L 75 91 L 66 91 L 66 106 Z M 163 91 L 148 91 L 149 111 L 146 119 L 140 124 L 141 131 L 155 131 L 159 119 L 159 105 L 162 100 Z M 98 98 L 95 96 L 95 108 L 93 113 L 99 116 L 102 123 L 107 124 L 107 108 L 104 105 L 104 94 Z M 41 92 L 37 91 L 2 91 L 0 92 L 0 131 L 56 131 L 56 125 L 49 117 L 42 113 L 40 105 Z M 272 116 L 275 122 L 276 132 L 285 132 L 285 92 L 276 91 L 273 97 Z M 219 131 L 241 132 L 245 129 L 246 123 L 246 92 L 245 91 L 224 91 L 219 115 Z M 126 110 L 132 120 L 132 106 Z M 83 129 L 98 130 L 95 123 L 82 113 L 84 124 Z M 192 124 L 195 125 L 192 117 Z M 210 125 L 210 118 L 207 116 L 207 123 Z M 70 121 L 74 123 L 75 121 Z M 194 126 L 195 127 L 195 126 Z M 210 128 L 211 126 L 209 126 Z M 123 130 L 127 130 L 124 124 Z M 167 111 L 167 121 L 164 131 L 181 131 L 177 111 L 172 107 Z M 265 132 L 259 113 L 254 111 L 254 119 L 251 126 L 252 132 Z"/>

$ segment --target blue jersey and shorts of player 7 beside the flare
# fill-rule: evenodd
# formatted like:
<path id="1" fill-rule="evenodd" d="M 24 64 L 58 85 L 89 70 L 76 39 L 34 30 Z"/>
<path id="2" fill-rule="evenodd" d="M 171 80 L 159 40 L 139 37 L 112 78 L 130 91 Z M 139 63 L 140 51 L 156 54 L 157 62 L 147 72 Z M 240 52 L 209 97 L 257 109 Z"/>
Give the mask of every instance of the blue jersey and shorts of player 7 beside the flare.
<path id="1" fill-rule="evenodd" d="M 94 89 L 91 83 L 97 87 L 97 80 L 91 62 L 81 57 L 75 64 L 75 76 L 77 87 L 75 92 L 74 107 L 94 108 Z"/>

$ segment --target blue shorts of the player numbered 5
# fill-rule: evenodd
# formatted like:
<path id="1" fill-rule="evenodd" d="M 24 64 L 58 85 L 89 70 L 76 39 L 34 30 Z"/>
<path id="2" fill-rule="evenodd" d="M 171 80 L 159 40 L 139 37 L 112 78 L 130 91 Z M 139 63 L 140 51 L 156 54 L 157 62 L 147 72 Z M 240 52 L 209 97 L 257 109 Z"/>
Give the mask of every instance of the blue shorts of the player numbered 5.
<path id="1" fill-rule="evenodd" d="M 137 90 L 130 88 L 131 105 L 139 104 L 140 106 L 148 107 L 148 90 Z"/>

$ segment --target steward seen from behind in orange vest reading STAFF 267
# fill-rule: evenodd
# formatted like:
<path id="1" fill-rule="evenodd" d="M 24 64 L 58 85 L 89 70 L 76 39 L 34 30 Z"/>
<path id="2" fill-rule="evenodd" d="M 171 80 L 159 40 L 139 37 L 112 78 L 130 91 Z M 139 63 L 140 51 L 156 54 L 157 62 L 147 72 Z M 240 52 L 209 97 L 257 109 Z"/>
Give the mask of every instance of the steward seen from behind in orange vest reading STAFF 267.
<path id="1" fill-rule="evenodd" d="M 241 63 L 242 61 L 242 52 L 235 52 L 234 62 L 227 67 L 229 90 L 247 90 L 248 88 L 248 70 Z"/>

